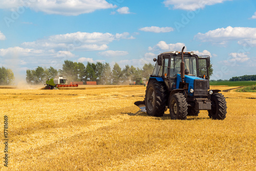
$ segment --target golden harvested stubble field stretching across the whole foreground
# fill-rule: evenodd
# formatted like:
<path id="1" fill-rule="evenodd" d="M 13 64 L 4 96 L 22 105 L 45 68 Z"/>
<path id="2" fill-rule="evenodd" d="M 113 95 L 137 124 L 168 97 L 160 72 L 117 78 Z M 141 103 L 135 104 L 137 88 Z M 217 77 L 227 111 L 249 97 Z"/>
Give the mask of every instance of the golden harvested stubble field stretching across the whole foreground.
<path id="1" fill-rule="evenodd" d="M 139 112 L 145 89 L 0 89 L 0 168 L 7 115 L 9 170 L 256 170 L 256 93 L 223 92 L 224 120 L 170 120 Z"/>

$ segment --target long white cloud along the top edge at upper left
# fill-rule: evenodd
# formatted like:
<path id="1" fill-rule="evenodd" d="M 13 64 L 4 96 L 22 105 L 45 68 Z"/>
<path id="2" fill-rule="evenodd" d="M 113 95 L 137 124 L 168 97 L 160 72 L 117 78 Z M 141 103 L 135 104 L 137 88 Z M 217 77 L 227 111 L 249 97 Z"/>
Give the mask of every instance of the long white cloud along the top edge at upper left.
<path id="1" fill-rule="evenodd" d="M 0 8 L 2 9 L 13 9 L 18 7 L 29 7 L 34 11 L 42 11 L 47 14 L 80 15 L 83 13 L 91 13 L 95 10 L 116 8 L 117 6 L 110 4 L 105 0 L 0 1 Z"/>

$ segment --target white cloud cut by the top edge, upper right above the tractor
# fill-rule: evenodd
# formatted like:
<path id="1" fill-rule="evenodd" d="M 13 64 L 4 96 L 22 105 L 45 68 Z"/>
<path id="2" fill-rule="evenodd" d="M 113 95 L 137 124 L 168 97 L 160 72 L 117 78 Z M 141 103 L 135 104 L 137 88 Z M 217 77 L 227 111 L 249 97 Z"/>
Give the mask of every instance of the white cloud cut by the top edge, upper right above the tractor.
<path id="1" fill-rule="evenodd" d="M 195 11 L 207 5 L 215 5 L 225 1 L 232 0 L 165 0 L 163 3 L 165 7 L 173 6 L 173 9 Z"/>

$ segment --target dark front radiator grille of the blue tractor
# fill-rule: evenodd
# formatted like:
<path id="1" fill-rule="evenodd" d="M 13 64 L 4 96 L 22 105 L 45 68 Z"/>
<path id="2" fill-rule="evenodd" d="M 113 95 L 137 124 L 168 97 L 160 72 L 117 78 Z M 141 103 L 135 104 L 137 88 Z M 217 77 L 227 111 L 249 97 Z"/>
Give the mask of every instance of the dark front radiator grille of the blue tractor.
<path id="1" fill-rule="evenodd" d="M 205 79 L 195 79 L 194 82 L 194 96 L 208 95 L 208 81 Z"/>

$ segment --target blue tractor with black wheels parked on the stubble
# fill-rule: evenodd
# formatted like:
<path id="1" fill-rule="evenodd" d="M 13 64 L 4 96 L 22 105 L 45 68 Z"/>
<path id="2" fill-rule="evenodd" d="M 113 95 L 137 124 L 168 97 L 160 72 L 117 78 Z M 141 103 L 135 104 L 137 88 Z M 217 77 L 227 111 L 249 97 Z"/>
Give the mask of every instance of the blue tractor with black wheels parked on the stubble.
<path id="1" fill-rule="evenodd" d="M 220 90 L 209 90 L 209 56 L 184 52 L 184 48 L 154 58 L 157 62 L 148 80 L 145 99 L 135 104 L 144 107 L 150 116 L 161 117 L 169 109 L 171 119 L 186 119 L 207 110 L 210 118 L 224 119 L 225 97 Z"/>

